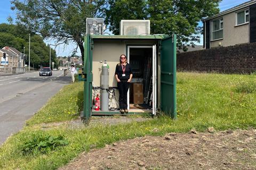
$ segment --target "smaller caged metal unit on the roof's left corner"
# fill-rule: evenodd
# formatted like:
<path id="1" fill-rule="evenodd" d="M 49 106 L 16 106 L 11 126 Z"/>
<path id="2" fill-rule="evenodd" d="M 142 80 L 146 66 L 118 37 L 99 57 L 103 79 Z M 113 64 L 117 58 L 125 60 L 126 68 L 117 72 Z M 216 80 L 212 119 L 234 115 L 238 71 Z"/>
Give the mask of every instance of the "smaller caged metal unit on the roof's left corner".
<path id="1" fill-rule="evenodd" d="M 103 35 L 103 18 L 86 18 L 86 34 Z"/>

